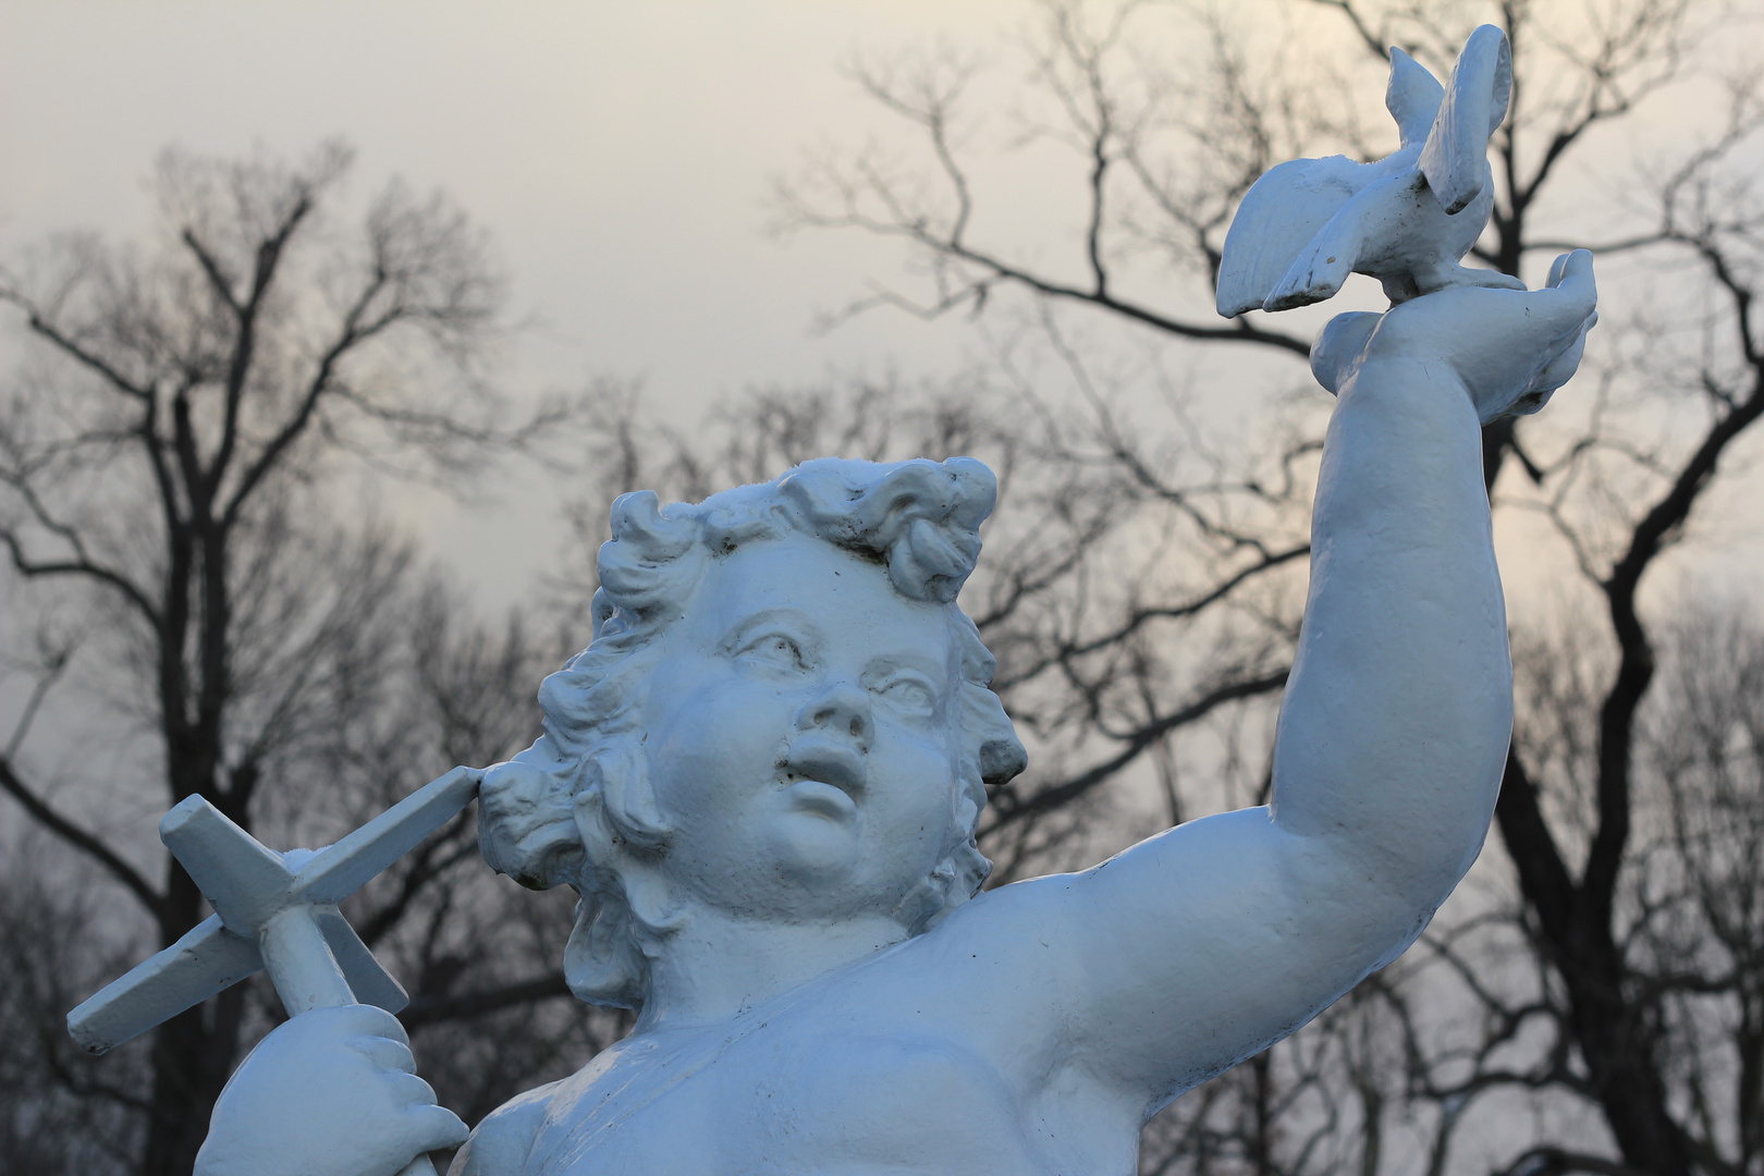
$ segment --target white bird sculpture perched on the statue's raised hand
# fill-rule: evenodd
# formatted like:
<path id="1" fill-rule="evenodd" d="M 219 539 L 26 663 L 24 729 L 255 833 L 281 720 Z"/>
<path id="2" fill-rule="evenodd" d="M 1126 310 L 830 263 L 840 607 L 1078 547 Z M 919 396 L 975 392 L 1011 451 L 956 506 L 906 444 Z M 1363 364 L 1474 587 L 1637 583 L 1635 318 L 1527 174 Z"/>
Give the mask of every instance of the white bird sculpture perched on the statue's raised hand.
<path id="1" fill-rule="evenodd" d="M 1224 238 L 1219 314 L 1323 301 L 1349 273 L 1376 277 L 1392 303 L 1448 286 L 1524 289 L 1459 264 L 1494 206 L 1489 136 L 1506 118 L 1512 78 L 1506 33 L 1492 25 L 1469 35 L 1445 88 L 1392 46 L 1385 106 L 1402 146 L 1374 164 L 1295 159 L 1256 180 Z"/>

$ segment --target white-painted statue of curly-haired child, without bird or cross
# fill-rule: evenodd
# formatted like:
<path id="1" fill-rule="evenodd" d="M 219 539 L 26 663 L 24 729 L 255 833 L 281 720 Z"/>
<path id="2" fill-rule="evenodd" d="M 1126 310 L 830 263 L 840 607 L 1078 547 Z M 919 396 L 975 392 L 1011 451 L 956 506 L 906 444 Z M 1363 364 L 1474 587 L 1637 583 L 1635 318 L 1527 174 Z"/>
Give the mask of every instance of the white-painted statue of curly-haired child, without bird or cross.
<path id="1" fill-rule="evenodd" d="M 970 460 L 810 462 L 614 508 L 593 645 L 483 781 L 483 850 L 584 899 L 566 971 L 635 1031 L 471 1134 L 467 1176 L 1124 1176 L 1184 1090 L 1395 957 L 1469 867 L 1512 672 L 1478 423 L 1579 361 L 1591 259 L 1342 316 L 1274 800 L 977 894 L 1023 767 L 954 605 Z M 390 1176 L 466 1128 L 374 1009 L 240 1068 L 199 1172 Z"/>

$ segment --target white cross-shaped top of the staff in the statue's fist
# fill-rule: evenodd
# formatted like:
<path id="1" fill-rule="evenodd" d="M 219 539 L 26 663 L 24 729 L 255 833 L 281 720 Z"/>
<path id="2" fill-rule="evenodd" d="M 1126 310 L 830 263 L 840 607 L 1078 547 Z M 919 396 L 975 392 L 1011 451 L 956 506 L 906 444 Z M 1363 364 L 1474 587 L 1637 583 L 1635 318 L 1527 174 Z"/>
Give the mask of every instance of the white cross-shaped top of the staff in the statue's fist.
<path id="1" fill-rule="evenodd" d="M 318 852 L 268 850 L 203 797 L 187 797 L 159 822 L 159 839 L 215 913 L 67 1014 L 67 1031 L 102 1054 L 259 968 L 291 1017 L 353 1003 L 399 1012 L 409 996 L 337 903 L 471 804 L 482 778 L 455 767 Z M 400 1176 L 434 1176 L 434 1165 L 418 1157 Z"/>

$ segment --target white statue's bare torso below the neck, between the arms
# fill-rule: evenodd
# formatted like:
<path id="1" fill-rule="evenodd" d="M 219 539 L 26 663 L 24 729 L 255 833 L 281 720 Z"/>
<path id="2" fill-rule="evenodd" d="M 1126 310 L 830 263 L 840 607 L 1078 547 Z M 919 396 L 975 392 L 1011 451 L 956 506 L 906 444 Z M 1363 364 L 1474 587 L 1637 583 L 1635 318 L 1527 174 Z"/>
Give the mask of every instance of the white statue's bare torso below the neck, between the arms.
<path id="1" fill-rule="evenodd" d="M 536 1132 L 520 1171 L 1132 1171 L 1140 1130 L 1134 1111 L 1057 1067 L 1037 1074 L 1028 1056 L 1000 1060 L 998 1035 L 972 1017 L 963 1024 L 935 986 L 887 984 L 887 973 L 914 971 L 900 966 L 914 954 L 903 947 L 871 961 L 880 968 L 824 977 L 736 1021 L 633 1037 L 563 1083 L 534 1091 L 545 1097 L 543 1120 L 533 1107 Z M 1034 1053 L 1028 1042 L 1037 1026 L 1020 1026 L 1018 1033 L 1023 1053 Z M 1034 1077 L 1025 1081 L 1025 1070 Z"/>

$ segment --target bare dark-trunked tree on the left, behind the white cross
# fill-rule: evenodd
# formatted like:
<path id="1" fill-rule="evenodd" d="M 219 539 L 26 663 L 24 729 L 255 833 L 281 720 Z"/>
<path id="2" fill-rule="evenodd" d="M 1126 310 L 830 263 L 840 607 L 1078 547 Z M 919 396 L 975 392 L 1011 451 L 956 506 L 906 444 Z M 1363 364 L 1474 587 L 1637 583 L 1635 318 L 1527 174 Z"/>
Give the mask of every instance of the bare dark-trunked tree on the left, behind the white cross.
<path id="1" fill-rule="evenodd" d="M 437 753 L 490 753 L 531 726 L 506 705 L 455 716 L 450 739 L 482 737 L 416 756 L 397 737 L 436 725 L 400 728 L 374 705 L 400 684 L 416 578 L 406 547 L 332 522 L 348 462 L 453 483 L 564 423 L 568 406 L 506 425 L 510 406 L 476 370 L 499 305 L 482 234 L 399 183 L 346 226 L 335 187 L 348 166 L 337 145 L 298 166 L 168 152 L 146 249 L 58 238 L 0 275 L 26 356 L 0 407 L 0 545 L 19 605 L 9 636 L 34 661 L 18 666 L 34 686 L 0 751 L 0 790 L 37 843 L 102 871 L 152 947 L 205 908 L 182 867 L 115 818 L 131 785 L 157 776 L 132 802 L 153 815 L 203 795 L 245 827 L 335 834 L 365 797 L 326 811 L 316 806 L 337 792 L 295 790 L 321 778 L 319 751 L 335 763 L 379 748 L 383 799 L 420 783 Z M 510 656 L 527 656 L 517 638 Z M 62 730 L 35 737 L 55 691 L 71 689 Z M 132 732 L 115 756 L 123 779 L 56 762 L 79 719 Z M 388 880 L 404 890 L 381 897 L 376 936 L 469 834 L 441 843 Z M 108 933 L 129 938 L 129 924 L 113 912 Z M 145 1091 L 83 1072 L 88 1093 L 145 1114 L 138 1171 L 189 1171 L 249 1017 L 240 986 L 166 1023 Z"/>

